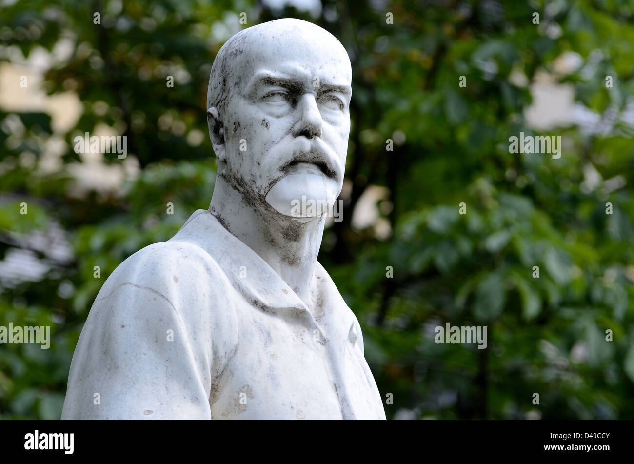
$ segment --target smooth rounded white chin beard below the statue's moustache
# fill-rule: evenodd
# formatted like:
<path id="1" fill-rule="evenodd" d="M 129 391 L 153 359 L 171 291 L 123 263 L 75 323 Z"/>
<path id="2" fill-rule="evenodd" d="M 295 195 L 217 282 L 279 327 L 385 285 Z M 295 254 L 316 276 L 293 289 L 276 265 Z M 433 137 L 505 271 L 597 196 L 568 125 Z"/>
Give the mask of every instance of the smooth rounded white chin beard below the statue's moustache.
<path id="1" fill-rule="evenodd" d="M 337 200 L 337 184 L 322 174 L 288 174 L 266 195 L 266 202 L 284 216 L 311 218 L 328 214 Z"/>

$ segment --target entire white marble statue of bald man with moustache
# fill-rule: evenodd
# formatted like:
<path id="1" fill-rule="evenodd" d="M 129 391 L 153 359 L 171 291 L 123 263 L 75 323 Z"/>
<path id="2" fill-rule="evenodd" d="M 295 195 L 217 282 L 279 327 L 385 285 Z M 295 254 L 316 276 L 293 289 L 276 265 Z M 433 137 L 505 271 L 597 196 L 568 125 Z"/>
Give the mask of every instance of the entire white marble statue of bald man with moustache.
<path id="1" fill-rule="evenodd" d="M 63 419 L 385 419 L 358 320 L 317 262 L 343 184 L 346 49 L 297 19 L 214 60 L 209 210 L 108 277 L 75 349 Z M 296 204 L 296 203 L 295 203 Z"/>

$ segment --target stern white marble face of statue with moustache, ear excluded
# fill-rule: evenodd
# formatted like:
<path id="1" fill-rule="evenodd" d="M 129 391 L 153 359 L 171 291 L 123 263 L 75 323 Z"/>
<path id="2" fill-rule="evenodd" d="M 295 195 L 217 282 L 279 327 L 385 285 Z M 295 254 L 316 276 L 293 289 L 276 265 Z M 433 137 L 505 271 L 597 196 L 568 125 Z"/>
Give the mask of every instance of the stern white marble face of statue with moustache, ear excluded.
<path id="1" fill-rule="evenodd" d="M 292 212 L 294 201 L 303 196 L 330 208 L 342 188 L 350 60 L 335 37 L 311 23 L 277 20 L 251 29 L 235 45 L 242 53 L 229 58 L 235 85 L 223 117 L 224 175 L 243 195 L 306 217 Z"/>

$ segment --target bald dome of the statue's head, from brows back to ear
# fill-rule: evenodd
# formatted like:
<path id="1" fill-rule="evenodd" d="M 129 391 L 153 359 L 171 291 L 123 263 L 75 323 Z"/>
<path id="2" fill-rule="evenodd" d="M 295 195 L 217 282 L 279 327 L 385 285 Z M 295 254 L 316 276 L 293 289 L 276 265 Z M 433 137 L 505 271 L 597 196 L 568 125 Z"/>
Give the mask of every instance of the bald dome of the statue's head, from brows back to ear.
<path id="1" fill-rule="evenodd" d="M 231 92 L 247 85 L 258 68 L 275 70 L 282 63 L 312 70 L 311 79 L 318 82 L 318 70 L 335 68 L 342 83 L 351 84 L 350 59 L 334 35 L 313 23 L 283 18 L 241 30 L 225 42 L 211 68 L 207 108 L 216 108 L 222 119 Z"/>

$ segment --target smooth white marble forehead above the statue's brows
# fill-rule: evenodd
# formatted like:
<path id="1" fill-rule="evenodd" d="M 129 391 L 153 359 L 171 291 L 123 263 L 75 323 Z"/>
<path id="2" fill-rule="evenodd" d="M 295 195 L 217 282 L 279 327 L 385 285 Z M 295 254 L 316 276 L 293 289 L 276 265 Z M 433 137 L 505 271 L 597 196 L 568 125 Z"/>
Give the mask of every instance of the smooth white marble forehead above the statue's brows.
<path id="1" fill-rule="evenodd" d="M 275 70 L 350 84 L 346 49 L 330 32 L 302 20 L 281 19 L 239 32 L 226 44 L 236 84 L 255 72 Z"/>

